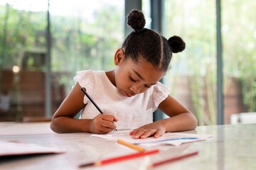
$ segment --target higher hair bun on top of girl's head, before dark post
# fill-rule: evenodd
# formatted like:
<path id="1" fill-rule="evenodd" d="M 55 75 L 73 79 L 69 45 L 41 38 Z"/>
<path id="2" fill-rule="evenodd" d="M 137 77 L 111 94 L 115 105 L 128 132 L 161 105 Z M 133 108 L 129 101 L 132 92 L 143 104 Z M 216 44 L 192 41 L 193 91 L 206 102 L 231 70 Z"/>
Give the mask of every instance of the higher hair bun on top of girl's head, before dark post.
<path id="1" fill-rule="evenodd" d="M 141 32 L 146 24 L 142 11 L 132 10 L 127 16 L 127 24 L 131 26 L 135 32 Z"/>

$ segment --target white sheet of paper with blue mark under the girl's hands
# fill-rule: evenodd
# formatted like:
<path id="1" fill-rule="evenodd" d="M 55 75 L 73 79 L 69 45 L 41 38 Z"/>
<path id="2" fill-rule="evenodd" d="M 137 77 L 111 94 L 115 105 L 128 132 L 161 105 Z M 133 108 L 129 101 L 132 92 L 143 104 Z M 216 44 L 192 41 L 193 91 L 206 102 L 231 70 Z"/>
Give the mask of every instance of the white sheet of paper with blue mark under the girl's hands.
<path id="1" fill-rule="evenodd" d="M 158 145 L 174 145 L 179 146 L 183 143 L 187 142 L 196 142 L 201 140 L 207 140 L 213 135 L 199 135 L 199 134 L 191 134 L 191 133 L 183 133 L 183 132 L 167 132 L 161 137 L 154 138 L 148 137 L 146 139 L 133 139 L 131 135 L 129 135 L 130 130 L 119 130 L 112 131 L 105 135 L 97 135 L 92 134 L 92 137 L 101 137 L 107 140 L 124 140 L 126 142 L 130 142 L 137 145 L 146 145 L 148 147 L 158 146 Z"/>

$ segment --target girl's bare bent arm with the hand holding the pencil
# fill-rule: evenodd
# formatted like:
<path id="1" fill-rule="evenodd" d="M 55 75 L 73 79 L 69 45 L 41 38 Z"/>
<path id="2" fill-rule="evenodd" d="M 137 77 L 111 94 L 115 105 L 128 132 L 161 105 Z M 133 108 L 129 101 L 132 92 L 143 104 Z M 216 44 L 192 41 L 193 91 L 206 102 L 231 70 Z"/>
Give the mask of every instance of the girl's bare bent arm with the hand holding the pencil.
<path id="1" fill-rule="evenodd" d="M 58 133 L 107 133 L 115 129 L 114 121 L 117 121 L 117 118 L 114 118 L 112 115 L 100 114 L 94 119 L 74 118 L 82 108 L 85 108 L 85 103 L 83 103 L 84 94 L 80 88 L 78 83 L 75 84 L 70 94 L 68 94 L 58 110 L 54 113 L 50 128 Z"/>

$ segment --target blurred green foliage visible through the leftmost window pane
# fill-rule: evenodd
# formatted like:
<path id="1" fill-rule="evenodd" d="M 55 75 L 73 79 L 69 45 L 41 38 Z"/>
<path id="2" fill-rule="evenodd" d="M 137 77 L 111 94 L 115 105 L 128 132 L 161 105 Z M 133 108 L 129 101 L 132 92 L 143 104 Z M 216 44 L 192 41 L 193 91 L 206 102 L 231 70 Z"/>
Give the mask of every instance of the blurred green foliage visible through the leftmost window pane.
<path id="1" fill-rule="evenodd" d="M 45 13 L 19 11 L 9 5 L 1 6 L 1 67 L 11 69 L 16 64 L 21 66 L 21 60 L 28 48 L 44 46 Z M 44 17 L 43 17 L 44 16 Z"/>

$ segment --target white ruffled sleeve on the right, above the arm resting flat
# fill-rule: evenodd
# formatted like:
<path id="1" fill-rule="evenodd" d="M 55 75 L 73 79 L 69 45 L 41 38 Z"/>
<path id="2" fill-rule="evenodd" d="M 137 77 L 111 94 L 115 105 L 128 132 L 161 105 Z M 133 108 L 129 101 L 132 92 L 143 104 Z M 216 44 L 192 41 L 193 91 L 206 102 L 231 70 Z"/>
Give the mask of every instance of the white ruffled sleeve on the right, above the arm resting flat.
<path id="1" fill-rule="evenodd" d="M 156 85 L 154 85 L 153 101 L 155 109 L 159 107 L 159 104 L 164 101 L 169 94 L 170 89 L 164 84 L 158 82 Z"/>

